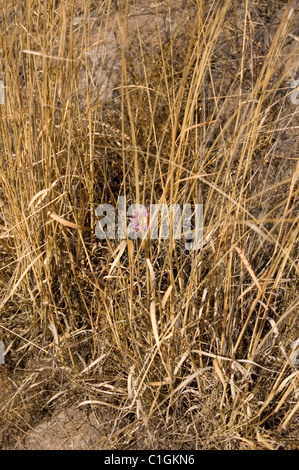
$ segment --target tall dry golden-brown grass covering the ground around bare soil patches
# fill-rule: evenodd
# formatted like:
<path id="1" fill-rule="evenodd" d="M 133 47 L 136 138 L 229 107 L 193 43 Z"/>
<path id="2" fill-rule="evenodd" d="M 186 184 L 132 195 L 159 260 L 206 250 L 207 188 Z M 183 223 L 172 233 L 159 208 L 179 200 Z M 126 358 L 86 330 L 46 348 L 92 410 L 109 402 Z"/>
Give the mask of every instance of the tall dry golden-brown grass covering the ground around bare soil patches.
<path id="1" fill-rule="evenodd" d="M 299 447 L 298 10 L 240 3 L 193 0 L 183 36 L 128 50 L 134 2 L 2 1 L 2 448 L 70 404 L 107 449 Z M 117 6 L 105 100 L 88 52 Z M 203 202 L 202 250 L 127 240 L 111 272 L 95 208 L 124 194 Z"/>

